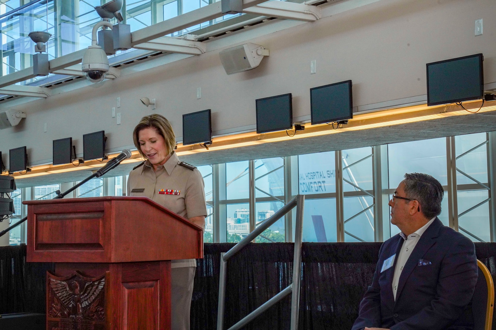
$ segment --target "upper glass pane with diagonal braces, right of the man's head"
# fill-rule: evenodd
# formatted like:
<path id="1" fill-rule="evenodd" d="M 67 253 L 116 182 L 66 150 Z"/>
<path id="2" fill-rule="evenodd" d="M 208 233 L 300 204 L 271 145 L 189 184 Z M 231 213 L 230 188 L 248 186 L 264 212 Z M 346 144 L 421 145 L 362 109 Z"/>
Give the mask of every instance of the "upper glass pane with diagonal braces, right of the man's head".
<path id="1" fill-rule="evenodd" d="M 486 133 L 460 135 L 455 137 L 456 156 L 472 149 L 473 147 L 487 141 Z M 474 179 L 488 182 L 488 158 L 487 144 L 483 144 L 477 149 L 467 153 L 456 160 L 456 167 Z M 476 182 L 456 171 L 456 184 L 466 185 Z"/>

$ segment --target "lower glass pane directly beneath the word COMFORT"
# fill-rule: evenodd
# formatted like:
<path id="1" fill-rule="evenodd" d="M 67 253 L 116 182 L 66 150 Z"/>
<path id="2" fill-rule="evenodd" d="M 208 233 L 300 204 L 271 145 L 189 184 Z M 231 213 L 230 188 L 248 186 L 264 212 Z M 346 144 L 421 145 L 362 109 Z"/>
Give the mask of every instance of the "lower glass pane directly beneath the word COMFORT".
<path id="1" fill-rule="evenodd" d="M 304 242 L 335 242 L 336 228 L 336 198 L 305 200 Z"/>

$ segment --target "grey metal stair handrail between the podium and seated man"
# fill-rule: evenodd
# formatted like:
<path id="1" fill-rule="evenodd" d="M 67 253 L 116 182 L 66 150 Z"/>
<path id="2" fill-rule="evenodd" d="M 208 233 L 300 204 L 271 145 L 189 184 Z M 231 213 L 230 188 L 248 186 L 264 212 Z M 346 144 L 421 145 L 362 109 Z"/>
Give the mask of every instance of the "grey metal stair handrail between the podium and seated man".
<path id="1" fill-rule="evenodd" d="M 220 274 L 219 274 L 219 306 L 217 309 L 217 330 L 224 328 L 224 308 L 226 297 L 226 279 L 227 279 L 227 261 L 236 253 L 246 247 L 249 242 L 262 234 L 266 229 L 272 226 L 276 221 L 282 218 L 286 213 L 296 206 L 296 228 L 295 228 L 295 250 L 293 257 L 293 281 L 281 292 L 267 300 L 260 307 L 245 316 L 241 321 L 236 323 L 229 330 L 238 330 L 246 326 L 257 316 L 265 312 L 272 305 L 279 302 L 291 293 L 291 330 L 298 329 L 298 312 L 300 308 L 300 278 L 302 267 L 302 233 L 303 233 L 303 208 L 305 204 L 305 195 L 297 195 L 290 202 L 284 205 L 270 218 L 263 221 L 255 230 L 243 238 L 238 244 L 233 246 L 226 253 L 221 253 Z"/>

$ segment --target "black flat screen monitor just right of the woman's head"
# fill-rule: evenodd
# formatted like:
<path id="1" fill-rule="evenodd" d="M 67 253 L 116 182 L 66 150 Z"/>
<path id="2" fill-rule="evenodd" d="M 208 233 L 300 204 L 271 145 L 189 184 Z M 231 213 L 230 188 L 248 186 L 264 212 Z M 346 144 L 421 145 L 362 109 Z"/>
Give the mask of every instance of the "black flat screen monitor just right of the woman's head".
<path id="1" fill-rule="evenodd" d="M 183 144 L 212 141 L 211 109 L 183 115 Z"/>

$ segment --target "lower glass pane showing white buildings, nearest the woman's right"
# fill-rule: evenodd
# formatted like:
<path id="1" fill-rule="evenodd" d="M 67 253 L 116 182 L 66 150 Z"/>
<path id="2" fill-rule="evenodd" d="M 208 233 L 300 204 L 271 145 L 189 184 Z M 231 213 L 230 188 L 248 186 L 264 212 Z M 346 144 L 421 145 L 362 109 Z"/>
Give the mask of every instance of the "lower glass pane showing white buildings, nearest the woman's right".
<path id="1" fill-rule="evenodd" d="M 249 234 L 249 205 L 227 204 L 227 242 L 235 243 Z"/>

